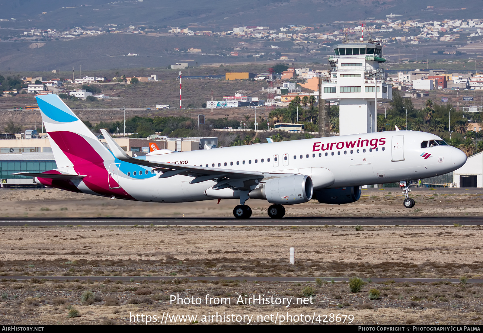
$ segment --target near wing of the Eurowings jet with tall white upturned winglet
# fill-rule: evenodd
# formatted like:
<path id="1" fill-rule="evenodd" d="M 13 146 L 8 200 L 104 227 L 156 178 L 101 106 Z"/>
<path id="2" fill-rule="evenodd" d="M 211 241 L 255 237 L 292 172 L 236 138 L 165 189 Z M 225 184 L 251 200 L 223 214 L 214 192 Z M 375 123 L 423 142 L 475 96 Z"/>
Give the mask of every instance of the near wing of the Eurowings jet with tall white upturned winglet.
<path id="1" fill-rule="evenodd" d="M 232 187 L 237 189 L 250 189 L 250 187 L 255 187 L 263 178 L 269 176 L 269 174 L 256 171 L 241 171 L 220 168 L 214 169 L 194 165 L 150 161 L 147 159 L 135 159 L 126 154 L 126 152 L 119 145 L 117 145 L 117 143 L 106 130 L 100 130 L 107 141 L 107 145 L 117 159 L 162 171 L 163 174 L 161 174 L 159 178 L 168 178 L 181 174 L 195 177 L 195 179 L 191 181 L 191 184 L 217 179 L 218 184 L 216 184 L 213 188 L 221 189 Z M 277 176 L 286 175 L 289 174 L 277 174 Z M 273 177 L 274 175 L 270 176 Z"/>

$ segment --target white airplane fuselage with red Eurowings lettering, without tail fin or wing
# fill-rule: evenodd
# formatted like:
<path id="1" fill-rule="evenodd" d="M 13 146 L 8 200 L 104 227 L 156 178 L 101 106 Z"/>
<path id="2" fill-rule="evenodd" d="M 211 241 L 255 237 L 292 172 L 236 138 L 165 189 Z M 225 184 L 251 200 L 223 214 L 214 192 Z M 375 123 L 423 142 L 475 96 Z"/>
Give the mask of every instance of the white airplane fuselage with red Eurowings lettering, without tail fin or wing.
<path id="1" fill-rule="evenodd" d="M 146 159 L 272 174 L 307 174 L 312 177 L 314 187 L 321 184 L 322 188 L 427 178 L 456 170 L 466 162 L 465 154 L 449 145 L 421 148 L 421 142 L 427 140 L 441 139 L 425 132 L 385 131 L 173 152 L 148 155 Z M 430 156 L 425 158 L 424 154 Z M 190 202 L 237 198 L 237 194 L 229 188 L 211 189 L 216 184 L 213 180 L 190 184 L 193 180 L 190 176 L 158 178 L 159 173 L 151 168 L 132 164 L 125 167 L 124 164 L 130 163 L 123 163 L 119 168 L 119 185 L 139 201 Z M 139 175 L 140 171 L 142 175 Z M 333 181 L 329 179 L 331 177 Z"/>

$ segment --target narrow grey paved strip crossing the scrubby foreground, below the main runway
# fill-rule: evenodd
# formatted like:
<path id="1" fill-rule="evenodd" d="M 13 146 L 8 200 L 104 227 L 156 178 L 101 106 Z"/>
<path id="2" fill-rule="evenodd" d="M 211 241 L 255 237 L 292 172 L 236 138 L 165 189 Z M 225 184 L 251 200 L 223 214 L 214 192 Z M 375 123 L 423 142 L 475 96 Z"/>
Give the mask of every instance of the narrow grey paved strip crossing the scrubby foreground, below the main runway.
<path id="1" fill-rule="evenodd" d="M 157 281 L 157 280 L 190 280 L 190 281 L 219 281 L 219 280 L 229 280 L 229 281 L 260 281 L 260 282 L 314 282 L 316 278 L 320 278 L 330 283 L 333 279 L 334 282 L 349 281 L 348 277 L 317 277 L 317 276 L 2 276 L 5 279 L 15 279 L 15 280 L 30 280 L 31 278 L 36 279 L 48 279 L 48 280 L 92 280 L 92 281 L 104 281 L 110 279 L 111 281 Z M 391 278 L 391 277 L 371 277 L 372 282 L 384 282 L 388 280 L 393 280 L 394 282 L 451 282 L 460 283 L 459 279 L 440 279 L 440 278 Z M 367 278 L 363 278 L 367 281 Z M 483 279 L 468 279 L 469 283 L 483 283 Z"/>

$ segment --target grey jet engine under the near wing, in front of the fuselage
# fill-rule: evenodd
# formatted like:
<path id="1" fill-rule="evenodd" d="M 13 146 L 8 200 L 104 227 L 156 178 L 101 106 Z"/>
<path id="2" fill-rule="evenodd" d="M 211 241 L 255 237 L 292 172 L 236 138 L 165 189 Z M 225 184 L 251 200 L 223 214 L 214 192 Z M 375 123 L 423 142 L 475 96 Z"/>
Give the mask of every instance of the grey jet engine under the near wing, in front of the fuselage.
<path id="1" fill-rule="evenodd" d="M 269 179 L 249 193 L 250 198 L 278 204 L 306 203 L 312 195 L 312 178 L 305 174 Z"/>

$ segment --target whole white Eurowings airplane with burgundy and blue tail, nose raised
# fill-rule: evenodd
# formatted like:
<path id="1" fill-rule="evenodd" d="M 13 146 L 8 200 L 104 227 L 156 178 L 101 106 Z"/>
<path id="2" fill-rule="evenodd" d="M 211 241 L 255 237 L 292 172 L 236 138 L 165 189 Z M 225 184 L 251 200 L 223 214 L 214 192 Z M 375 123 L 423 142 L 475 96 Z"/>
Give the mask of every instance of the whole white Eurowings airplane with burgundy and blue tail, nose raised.
<path id="1" fill-rule="evenodd" d="M 466 155 L 440 137 L 418 131 L 385 131 L 186 152 L 168 149 L 130 157 L 105 130 L 107 145 L 57 95 L 37 96 L 57 169 L 33 176 L 37 184 L 113 199 L 181 203 L 240 199 L 233 215 L 252 215 L 246 201 L 284 205 L 353 203 L 361 186 L 400 182 L 403 204 L 409 181 L 460 168 Z M 397 128 L 396 128 L 397 129 Z"/>

